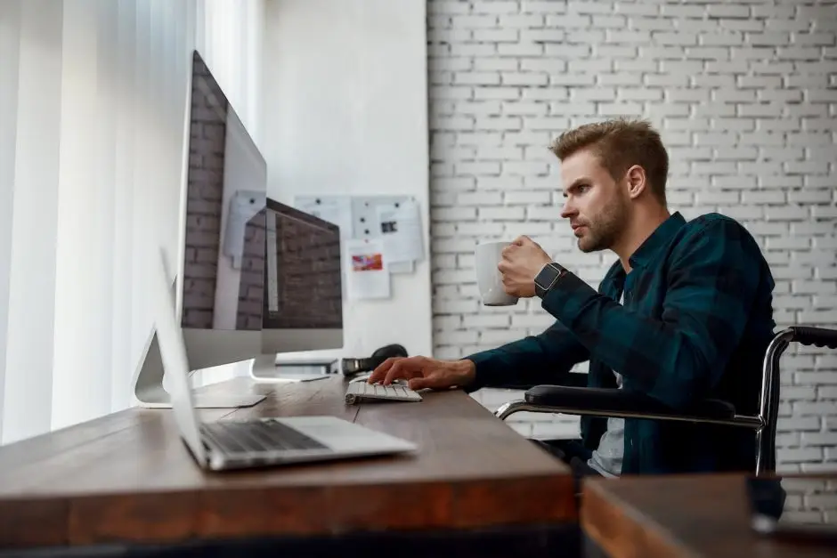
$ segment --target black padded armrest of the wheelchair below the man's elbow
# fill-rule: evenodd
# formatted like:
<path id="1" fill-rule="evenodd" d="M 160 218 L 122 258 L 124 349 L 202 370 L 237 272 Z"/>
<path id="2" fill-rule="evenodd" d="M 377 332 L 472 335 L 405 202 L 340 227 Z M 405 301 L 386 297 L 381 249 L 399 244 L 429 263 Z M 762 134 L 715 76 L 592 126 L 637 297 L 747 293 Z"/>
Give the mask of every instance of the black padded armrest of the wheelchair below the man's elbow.
<path id="1" fill-rule="evenodd" d="M 689 415 L 701 418 L 732 418 L 735 407 L 722 400 L 702 400 L 682 411 L 672 409 L 647 395 L 616 389 L 536 385 L 526 391 L 526 402 L 544 407 L 562 407 L 608 411 L 653 413 L 658 415 Z"/>

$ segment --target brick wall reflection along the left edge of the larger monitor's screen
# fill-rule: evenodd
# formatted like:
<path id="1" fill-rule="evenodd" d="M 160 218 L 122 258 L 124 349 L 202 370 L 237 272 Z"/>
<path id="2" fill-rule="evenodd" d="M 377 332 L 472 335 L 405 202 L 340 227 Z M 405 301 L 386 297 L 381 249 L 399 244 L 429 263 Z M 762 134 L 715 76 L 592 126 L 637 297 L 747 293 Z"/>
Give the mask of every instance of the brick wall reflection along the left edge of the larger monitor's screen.
<path id="1" fill-rule="evenodd" d="M 212 328 L 221 249 L 226 110 L 226 98 L 207 67 L 196 59 L 186 199 L 183 328 Z"/>

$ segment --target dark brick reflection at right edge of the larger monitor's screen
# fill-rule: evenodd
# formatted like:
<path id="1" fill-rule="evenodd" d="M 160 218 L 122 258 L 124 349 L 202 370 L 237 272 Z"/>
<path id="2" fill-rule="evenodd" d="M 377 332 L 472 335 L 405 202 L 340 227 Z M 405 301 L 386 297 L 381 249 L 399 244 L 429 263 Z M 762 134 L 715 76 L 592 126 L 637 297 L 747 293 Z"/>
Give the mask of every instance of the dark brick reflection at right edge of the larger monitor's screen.
<path id="1" fill-rule="evenodd" d="M 264 303 L 264 257 L 267 241 L 267 210 L 262 209 L 244 228 L 244 253 L 241 259 L 239 308 L 236 329 L 261 329 Z"/>

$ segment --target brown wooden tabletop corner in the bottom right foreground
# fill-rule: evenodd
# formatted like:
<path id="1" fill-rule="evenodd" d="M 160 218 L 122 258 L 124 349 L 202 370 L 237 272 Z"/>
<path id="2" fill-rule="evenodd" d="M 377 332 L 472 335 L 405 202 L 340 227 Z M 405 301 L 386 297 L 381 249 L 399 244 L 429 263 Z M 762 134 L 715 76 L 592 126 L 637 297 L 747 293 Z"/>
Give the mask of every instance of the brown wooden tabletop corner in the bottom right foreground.
<path id="1" fill-rule="evenodd" d="M 779 542 L 752 532 L 741 474 L 585 481 L 581 529 L 597 546 L 589 554 L 603 551 L 611 558 L 837 555 L 833 546 Z"/>

